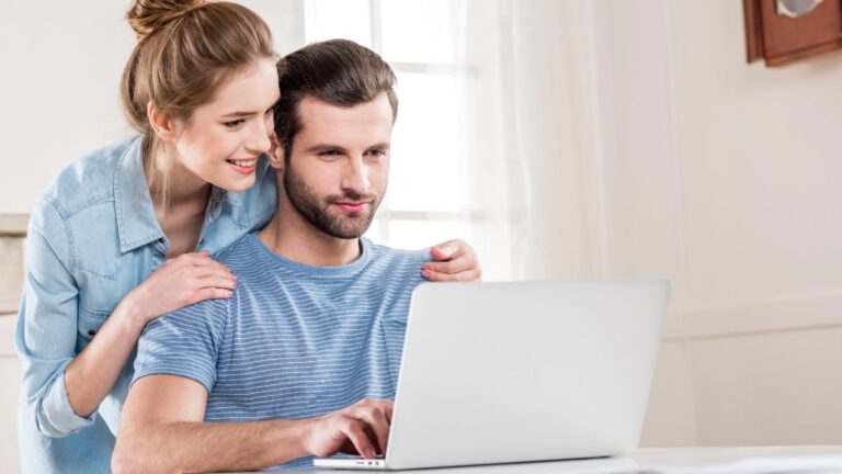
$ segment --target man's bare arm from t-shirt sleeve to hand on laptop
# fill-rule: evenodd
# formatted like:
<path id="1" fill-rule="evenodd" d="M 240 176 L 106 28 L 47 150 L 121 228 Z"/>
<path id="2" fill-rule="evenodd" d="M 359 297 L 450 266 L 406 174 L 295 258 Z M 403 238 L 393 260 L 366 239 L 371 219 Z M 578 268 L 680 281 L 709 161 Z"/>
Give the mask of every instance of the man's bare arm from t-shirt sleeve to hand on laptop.
<path id="1" fill-rule="evenodd" d="M 390 400 L 360 400 L 307 419 L 203 421 L 207 391 L 191 379 L 148 375 L 132 386 L 112 456 L 114 473 L 255 471 L 338 452 L 386 453 Z"/>

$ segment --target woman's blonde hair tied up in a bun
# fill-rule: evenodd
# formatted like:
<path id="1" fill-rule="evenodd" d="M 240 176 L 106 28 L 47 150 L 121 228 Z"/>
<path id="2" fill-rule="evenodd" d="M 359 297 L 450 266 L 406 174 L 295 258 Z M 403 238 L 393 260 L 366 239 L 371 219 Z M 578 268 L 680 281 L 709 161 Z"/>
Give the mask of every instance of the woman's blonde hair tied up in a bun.
<path id="1" fill-rule="evenodd" d="M 190 121 L 220 82 L 257 59 L 276 57 L 272 33 L 257 13 L 225 1 L 135 0 L 126 16 L 138 41 L 123 70 L 121 97 L 129 124 L 144 136 L 150 192 L 164 192 L 148 104 L 164 117 Z M 166 210 L 166 195 L 153 198 Z"/>

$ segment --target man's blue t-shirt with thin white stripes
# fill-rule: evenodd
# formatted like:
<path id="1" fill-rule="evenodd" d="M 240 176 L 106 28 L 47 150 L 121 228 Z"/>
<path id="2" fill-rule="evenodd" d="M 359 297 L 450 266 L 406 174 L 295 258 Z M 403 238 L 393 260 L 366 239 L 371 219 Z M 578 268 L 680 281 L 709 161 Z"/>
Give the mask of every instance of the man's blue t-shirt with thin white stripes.
<path id="1" fill-rule="evenodd" d="M 366 397 L 394 399 L 409 300 L 430 255 L 365 238 L 361 246 L 350 264 L 309 267 L 272 252 L 257 234 L 242 237 L 215 257 L 237 275 L 231 298 L 150 323 L 134 380 L 201 383 L 206 421 L 306 418 Z"/>

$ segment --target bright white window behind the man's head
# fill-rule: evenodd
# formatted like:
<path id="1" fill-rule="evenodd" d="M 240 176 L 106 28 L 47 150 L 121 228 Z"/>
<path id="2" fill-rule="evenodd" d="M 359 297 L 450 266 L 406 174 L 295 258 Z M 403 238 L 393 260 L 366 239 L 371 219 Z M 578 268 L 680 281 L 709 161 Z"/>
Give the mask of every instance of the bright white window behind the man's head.
<path id="1" fill-rule="evenodd" d="M 450 0 L 306 0 L 307 43 L 343 37 L 398 77 L 389 188 L 366 237 L 396 248 L 470 239 L 462 82 Z"/>

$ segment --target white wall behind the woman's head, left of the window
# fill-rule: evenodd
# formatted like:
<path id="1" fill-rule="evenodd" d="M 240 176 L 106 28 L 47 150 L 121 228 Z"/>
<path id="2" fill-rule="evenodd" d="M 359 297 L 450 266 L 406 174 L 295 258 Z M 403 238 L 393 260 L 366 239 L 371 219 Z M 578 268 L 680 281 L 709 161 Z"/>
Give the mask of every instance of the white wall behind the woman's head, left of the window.
<path id="1" fill-rule="evenodd" d="M 29 213 L 53 176 L 129 133 L 118 84 L 134 32 L 130 2 L 0 0 L 0 214 Z M 300 0 L 242 1 L 278 53 L 304 41 Z"/>

